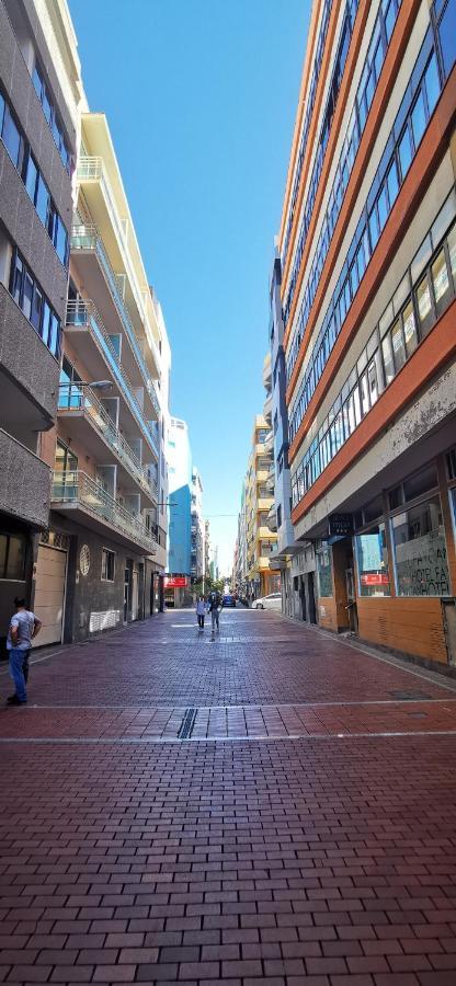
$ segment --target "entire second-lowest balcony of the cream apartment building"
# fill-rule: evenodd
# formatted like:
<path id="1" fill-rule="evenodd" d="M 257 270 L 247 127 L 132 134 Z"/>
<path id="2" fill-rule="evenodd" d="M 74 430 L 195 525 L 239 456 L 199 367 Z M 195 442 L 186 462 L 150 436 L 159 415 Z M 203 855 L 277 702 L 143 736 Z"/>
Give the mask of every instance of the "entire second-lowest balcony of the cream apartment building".
<path id="1" fill-rule="evenodd" d="M 125 490 L 139 486 L 141 508 L 155 506 L 158 500 L 157 484 L 149 479 L 106 409 L 84 383 L 60 383 L 58 417 L 65 419 L 68 434 L 91 455 L 95 462 L 117 465 L 117 472 Z"/>

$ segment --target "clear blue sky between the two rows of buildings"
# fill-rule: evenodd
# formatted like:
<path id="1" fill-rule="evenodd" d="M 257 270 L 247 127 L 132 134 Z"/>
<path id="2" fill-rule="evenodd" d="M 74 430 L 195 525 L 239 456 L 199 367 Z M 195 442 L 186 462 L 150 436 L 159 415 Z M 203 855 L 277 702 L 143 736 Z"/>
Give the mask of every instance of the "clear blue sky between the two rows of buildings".
<path id="1" fill-rule="evenodd" d="M 172 347 L 204 511 L 231 565 L 310 0 L 69 0 Z M 220 516 L 229 515 L 229 516 Z"/>

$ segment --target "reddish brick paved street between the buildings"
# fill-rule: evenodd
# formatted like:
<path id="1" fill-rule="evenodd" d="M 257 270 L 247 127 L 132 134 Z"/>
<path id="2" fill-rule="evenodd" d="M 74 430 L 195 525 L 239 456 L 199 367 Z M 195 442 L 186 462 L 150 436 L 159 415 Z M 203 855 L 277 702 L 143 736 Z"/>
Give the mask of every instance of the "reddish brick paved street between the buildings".
<path id="1" fill-rule="evenodd" d="M 0 982 L 454 986 L 454 681 L 243 610 L 34 658 Z"/>

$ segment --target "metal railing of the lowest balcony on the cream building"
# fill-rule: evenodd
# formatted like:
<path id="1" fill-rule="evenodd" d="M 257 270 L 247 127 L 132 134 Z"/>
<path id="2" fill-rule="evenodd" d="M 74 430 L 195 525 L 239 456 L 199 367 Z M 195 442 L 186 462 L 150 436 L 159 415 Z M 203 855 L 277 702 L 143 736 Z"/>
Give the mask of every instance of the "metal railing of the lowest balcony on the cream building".
<path id="1" fill-rule="evenodd" d="M 144 521 L 130 514 L 114 496 L 103 490 L 86 472 L 55 472 L 53 503 L 79 504 L 83 509 L 117 528 L 125 537 L 140 544 L 148 554 L 157 550 L 157 541 Z"/>

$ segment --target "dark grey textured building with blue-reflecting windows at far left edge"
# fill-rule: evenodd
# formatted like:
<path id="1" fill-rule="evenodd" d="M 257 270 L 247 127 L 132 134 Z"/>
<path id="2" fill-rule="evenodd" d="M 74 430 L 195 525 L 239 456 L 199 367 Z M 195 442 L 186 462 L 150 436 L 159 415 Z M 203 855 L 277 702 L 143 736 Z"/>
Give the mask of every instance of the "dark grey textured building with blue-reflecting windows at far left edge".
<path id="1" fill-rule="evenodd" d="M 48 526 L 80 66 L 65 0 L 0 0 L 0 627 Z"/>

